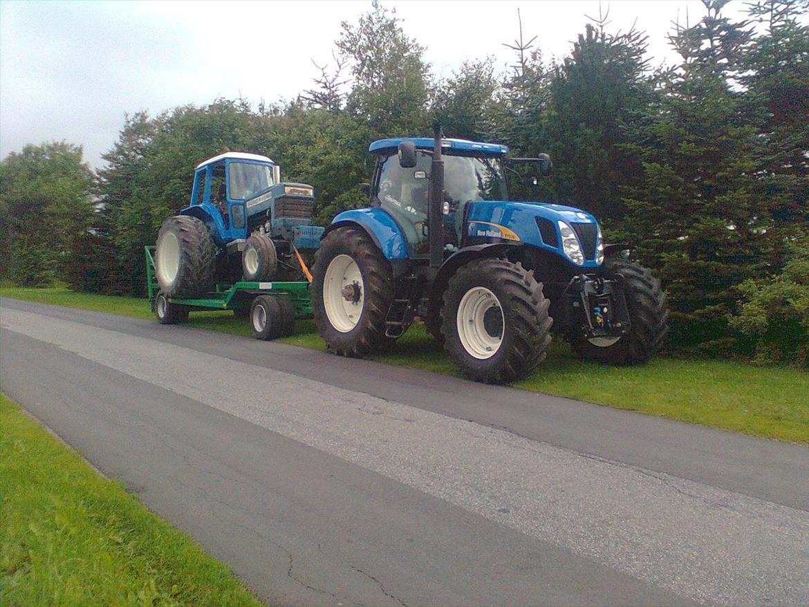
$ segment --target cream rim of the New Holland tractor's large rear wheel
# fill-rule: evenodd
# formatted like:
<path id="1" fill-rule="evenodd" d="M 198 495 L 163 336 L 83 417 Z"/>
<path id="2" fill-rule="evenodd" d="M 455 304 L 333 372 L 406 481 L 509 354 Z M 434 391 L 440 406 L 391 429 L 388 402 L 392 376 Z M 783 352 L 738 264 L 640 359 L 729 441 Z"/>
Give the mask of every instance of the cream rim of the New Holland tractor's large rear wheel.
<path id="1" fill-rule="evenodd" d="M 323 303 L 332 327 L 348 333 L 357 326 L 365 304 L 365 283 L 359 266 L 348 255 L 337 255 L 328 264 L 323 281 Z"/>

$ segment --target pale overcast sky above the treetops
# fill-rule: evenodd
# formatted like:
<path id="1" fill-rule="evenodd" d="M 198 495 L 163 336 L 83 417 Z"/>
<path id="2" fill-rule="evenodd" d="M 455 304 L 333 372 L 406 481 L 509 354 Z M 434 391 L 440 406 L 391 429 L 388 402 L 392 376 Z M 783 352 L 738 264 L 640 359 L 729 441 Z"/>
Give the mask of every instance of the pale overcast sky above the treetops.
<path id="1" fill-rule="evenodd" d="M 597 0 L 494 2 L 408 0 L 396 7 L 404 31 L 427 47 L 433 73 L 449 75 L 487 55 L 504 68 L 518 34 L 537 36 L 545 57 L 563 57 L 597 16 Z M 116 141 L 126 112 L 152 115 L 183 104 L 238 96 L 254 104 L 292 99 L 331 61 L 341 21 L 356 22 L 370 1 L 349 2 L 22 2 L 0 0 L 0 157 L 26 143 L 65 140 L 84 146 L 87 162 Z M 671 23 L 697 22 L 698 0 L 613 0 L 612 31 L 650 36 L 653 63 L 673 63 Z M 726 7 L 740 15 L 743 2 Z"/>

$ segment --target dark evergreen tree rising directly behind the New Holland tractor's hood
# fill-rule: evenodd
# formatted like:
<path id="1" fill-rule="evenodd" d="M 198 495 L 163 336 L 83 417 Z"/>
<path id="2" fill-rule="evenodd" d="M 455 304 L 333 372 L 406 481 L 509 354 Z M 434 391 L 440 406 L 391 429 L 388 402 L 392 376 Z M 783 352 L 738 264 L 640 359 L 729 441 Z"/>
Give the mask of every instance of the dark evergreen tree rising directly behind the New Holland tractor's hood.
<path id="1" fill-rule="evenodd" d="M 542 137 L 559 199 L 610 223 L 624 214 L 621 189 L 642 174 L 626 125 L 650 103 L 646 35 L 607 32 L 607 15 L 579 34 L 551 80 Z"/>

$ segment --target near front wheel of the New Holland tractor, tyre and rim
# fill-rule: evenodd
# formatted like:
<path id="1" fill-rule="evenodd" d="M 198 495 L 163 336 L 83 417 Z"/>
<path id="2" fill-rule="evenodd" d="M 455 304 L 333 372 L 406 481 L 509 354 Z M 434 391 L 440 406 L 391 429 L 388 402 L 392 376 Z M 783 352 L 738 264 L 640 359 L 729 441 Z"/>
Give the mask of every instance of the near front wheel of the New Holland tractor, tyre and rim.
<path id="1" fill-rule="evenodd" d="M 523 265 L 498 258 L 472 261 L 444 293 L 444 348 L 471 380 L 519 380 L 545 357 L 549 304 L 541 283 Z"/>

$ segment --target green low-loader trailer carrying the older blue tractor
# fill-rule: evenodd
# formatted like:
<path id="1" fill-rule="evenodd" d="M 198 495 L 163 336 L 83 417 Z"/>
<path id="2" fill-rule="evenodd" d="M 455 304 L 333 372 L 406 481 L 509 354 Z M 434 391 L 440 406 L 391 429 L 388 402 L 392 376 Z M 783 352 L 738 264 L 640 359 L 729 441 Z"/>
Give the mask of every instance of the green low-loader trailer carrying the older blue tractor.
<path id="1" fill-rule="evenodd" d="M 248 318 L 256 339 L 274 339 L 294 333 L 295 320 L 311 318 L 308 282 L 249 282 L 217 284 L 214 291 L 197 299 L 174 299 L 160 291 L 155 276 L 155 247 L 146 245 L 146 288 L 152 312 L 162 325 L 188 319 L 189 312 L 232 310 Z"/>

